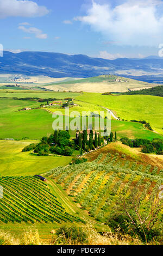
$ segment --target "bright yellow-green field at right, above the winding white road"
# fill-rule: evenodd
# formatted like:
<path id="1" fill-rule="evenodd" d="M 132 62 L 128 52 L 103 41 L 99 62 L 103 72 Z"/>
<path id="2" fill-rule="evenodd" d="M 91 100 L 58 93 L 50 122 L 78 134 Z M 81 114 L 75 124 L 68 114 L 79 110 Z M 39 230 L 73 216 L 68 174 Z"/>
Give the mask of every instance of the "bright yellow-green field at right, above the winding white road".
<path id="1" fill-rule="evenodd" d="M 97 93 L 84 93 L 78 96 L 77 100 L 107 107 L 121 119 L 146 120 L 156 132 L 163 135 L 162 97 L 151 95 L 106 96 Z"/>

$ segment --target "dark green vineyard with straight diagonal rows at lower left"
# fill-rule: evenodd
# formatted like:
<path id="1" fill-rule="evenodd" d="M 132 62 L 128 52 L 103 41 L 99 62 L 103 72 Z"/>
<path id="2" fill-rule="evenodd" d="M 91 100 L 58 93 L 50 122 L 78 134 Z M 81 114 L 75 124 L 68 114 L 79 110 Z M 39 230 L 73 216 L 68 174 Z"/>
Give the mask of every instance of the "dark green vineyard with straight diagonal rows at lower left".
<path id="1" fill-rule="evenodd" d="M 49 191 L 47 184 L 33 176 L 0 177 L 3 198 L 0 205 L 0 222 L 80 222 L 62 207 Z"/>

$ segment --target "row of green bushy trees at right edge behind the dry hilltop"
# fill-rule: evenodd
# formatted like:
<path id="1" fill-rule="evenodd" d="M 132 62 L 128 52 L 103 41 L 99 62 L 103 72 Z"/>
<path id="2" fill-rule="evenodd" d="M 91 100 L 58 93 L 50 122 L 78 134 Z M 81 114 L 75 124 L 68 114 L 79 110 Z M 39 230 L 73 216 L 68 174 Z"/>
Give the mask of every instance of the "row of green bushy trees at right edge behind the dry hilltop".
<path id="1" fill-rule="evenodd" d="M 121 142 L 131 148 L 142 147 L 142 153 L 163 154 L 163 139 L 153 139 L 152 141 L 149 141 L 149 139 L 129 139 L 123 137 L 121 138 Z"/>

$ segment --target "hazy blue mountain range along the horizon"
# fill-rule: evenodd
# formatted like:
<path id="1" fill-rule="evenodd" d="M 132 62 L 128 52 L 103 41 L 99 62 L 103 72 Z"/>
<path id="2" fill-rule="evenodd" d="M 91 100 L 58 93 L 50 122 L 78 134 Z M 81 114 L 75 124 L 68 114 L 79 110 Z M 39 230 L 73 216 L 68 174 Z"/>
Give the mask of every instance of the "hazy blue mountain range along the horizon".
<path id="1" fill-rule="evenodd" d="M 163 83 L 163 58 L 149 56 L 142 59 L 109 60 L 91 58 L 82 54 L 4 51 L 4 56 L 0 57 L 0 74 L 51 77 L 92 77 L 101 74 L 120 74 L 137 80 Z"/>

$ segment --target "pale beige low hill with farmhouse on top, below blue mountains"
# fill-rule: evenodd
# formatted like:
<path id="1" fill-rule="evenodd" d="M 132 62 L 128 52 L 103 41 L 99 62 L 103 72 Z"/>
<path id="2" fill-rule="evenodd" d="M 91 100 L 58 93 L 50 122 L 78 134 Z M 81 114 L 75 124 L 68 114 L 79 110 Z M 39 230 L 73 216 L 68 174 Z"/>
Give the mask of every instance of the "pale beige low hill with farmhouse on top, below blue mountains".
<path id="1" fill-rule="evenodd" d="M 129 90 L 140 90 L 155 87 L 157 84 L 137 81 L 125 77 L 102 75 L 80 80 L 59 82 L 43 86 L 55 91 L 90 92 L 90 93 L 124 93 Z"/>

